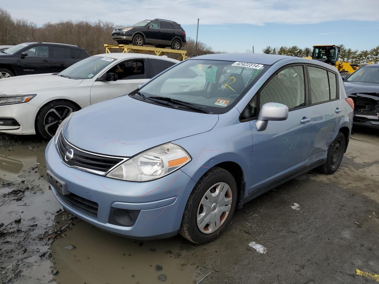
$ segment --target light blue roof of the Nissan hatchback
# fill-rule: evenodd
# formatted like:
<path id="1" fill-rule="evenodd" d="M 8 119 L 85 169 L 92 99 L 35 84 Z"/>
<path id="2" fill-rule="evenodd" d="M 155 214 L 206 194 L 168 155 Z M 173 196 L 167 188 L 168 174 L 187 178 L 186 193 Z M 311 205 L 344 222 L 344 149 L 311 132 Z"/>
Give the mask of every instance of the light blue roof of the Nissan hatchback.
<path id="1" fill-rule="evenodd" d="M 287 55 L 265 54 L 265 53 L 214 53 L 200 55 L 189 58 L 191 59 L 206 59 L 206 60 L 224 60 L 238 62 L 252 62 L 265 65 L 273 65 L 275 62 L 285 58 L 296 58 Z M 298 58 L 298 57 L 297 57 Z"/>

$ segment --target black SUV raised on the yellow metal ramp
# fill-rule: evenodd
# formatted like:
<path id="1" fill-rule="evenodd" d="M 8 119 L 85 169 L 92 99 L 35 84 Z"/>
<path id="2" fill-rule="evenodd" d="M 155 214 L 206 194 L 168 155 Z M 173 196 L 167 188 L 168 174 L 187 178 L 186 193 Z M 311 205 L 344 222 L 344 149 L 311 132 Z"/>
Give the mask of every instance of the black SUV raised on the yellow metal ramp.
<path id="1" fill-rule="evenodd" d="M 172 49 L 180 49 L 187 43 L 186 32 L 180 24 L 163 19 L 143 20 L 132 27 L 115 28 L 112 38 L 118 44 L 151 44 Z"/>

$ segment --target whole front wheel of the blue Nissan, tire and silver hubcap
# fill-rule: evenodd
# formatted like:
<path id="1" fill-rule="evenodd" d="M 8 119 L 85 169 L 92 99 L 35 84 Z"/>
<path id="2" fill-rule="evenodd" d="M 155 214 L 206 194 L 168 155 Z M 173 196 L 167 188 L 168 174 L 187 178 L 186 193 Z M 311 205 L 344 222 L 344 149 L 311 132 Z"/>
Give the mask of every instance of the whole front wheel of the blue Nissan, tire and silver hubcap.
<path id="1" fill-rule="evenodd" d="M 226 228 L 237 203 L 237 185 L 226 170 L 210 169 L 194 186 L 179 233 L 193 243 L 215 240 Z"/>

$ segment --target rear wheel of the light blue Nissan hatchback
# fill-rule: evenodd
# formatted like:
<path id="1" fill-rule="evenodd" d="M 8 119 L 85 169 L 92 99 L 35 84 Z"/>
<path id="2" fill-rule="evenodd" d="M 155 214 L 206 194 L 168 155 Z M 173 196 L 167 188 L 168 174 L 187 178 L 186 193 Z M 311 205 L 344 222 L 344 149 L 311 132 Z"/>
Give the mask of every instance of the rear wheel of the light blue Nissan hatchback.
<path id="1" fill-rule="evenodd" d="M 337 171 L 338 167 L 340 167 L 343 154 L 345 153 L 345 141 L 345 135 L 343 135 L 342 132 L 338 132 L 337 137 L 332 144 L 329 145 L 325 164 L 319 168 L 321 172 L 331 175 Z"/>

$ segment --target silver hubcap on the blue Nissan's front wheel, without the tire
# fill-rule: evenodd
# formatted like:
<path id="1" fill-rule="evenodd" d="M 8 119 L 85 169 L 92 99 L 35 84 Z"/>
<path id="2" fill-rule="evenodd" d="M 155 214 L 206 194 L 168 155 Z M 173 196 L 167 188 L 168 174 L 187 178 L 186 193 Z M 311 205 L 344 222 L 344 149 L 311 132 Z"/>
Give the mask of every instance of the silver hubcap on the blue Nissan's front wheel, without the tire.
<path id="1" fill-rule="evenodd" d="M 205 192 L 197 208 L 197 228 L 204 234 L 221 227 L 232 207 L 232 189 L 226 183 L 216 183 Z"/>

